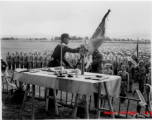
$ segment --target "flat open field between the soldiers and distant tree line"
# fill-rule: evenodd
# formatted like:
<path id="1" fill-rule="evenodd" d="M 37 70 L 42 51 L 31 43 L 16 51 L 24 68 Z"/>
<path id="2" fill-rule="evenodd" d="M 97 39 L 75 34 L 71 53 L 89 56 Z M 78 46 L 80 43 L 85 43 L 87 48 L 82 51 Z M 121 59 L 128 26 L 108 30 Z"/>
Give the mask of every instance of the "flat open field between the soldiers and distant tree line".
<path id="1" fill-rule="evenodd" d="M 42 51 L 44 49 L 53 50 L 58 42 L 50 42 L 50 41 L 35 41 L 35 42 L 29 42 L 29 41 L 1 41 L 1 56 L 5 60 L 7 52 L 29 52 L 29 51 Z M 70 42 L 69 46 L 71 48 L 76 48 L 80 45 L 80 42 Z M 133 43 L 103 43 L 101 47 L 119 47 L 119 46 L 132 46 L 135 45 Z M 145 44 L 141 44 L 145 45 Z M 140 45 L 139 45 L 140 47 Z M 150 49 L 151 45 L 148 45 L 147 49 Z"/>

